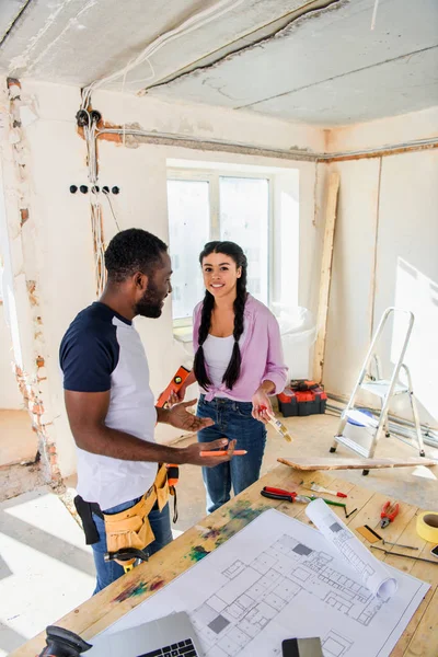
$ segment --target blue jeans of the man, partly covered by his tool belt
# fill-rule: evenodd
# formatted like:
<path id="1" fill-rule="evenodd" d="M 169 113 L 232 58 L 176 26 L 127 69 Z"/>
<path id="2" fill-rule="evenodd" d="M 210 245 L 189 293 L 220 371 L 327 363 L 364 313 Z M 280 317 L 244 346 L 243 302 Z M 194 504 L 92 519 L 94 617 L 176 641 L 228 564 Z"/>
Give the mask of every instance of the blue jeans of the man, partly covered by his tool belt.
<path id="1" fill-rule="evenodd" d="M 118 514 L 119 511 L 125 511 L 129 509 L 135 504 L 140 502 L 141 497 L 137 497 L 136 499 L 131 499 L 130 502 L 125 502 L 123 504 L 118 504 L 117 506 L 111 507 L 110 509 L 105 509 L 104 514 Z M 168 545 L 172 541 L 172 529 L 171 529 L 171 519 L 169 512 L 169 504 L 165 505 L 163 510 L 159 511 L 158 505 L 153 507 L 151 512 L 148 516 L 149 522 L 151 525 L 152 531 L 155 535 L 155 540 L 153 543 L 148 545 L 145 552 L 151 556 L 164 545 Z M 97 528 L 97 532 L 100 535 L 99 543 L 94 543 L 92 545 L 94 564 L 96 567 L 96 587 L 94 589 L 93 596 L 99 593 L 105 586 L 108 586 L 122 575 L 125 574 L 123 566 L 117 564 L 115 561 L 105 562 L 104 554 L 107 551 L 106 549 L 106 534 L 105 534 L 105 523 L 103 518 L 100 518 L 95 514 L 93 514 L 93 520 Z"/>

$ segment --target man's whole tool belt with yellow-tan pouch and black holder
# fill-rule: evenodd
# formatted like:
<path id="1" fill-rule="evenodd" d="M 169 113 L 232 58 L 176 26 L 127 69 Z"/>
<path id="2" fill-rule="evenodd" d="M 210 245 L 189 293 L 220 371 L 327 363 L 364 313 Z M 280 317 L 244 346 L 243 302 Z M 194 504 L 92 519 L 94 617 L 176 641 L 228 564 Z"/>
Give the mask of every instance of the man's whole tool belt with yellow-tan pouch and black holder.
<path id="1" fill-rule="evenodd" d="M 154 541 L 155 537 L 148 516 L 155 504 L 162 511 L 168 504 L 168 469 L 164 464 L 160 464 L 152 486 L 137 504 L 125 511 L 104 514 L 96 503 L 85 502 L 79 495 L 74 498 L 74 506 L 82 520 L 87 544 L 92 545 L 100 540 L 93 520 L 95 514 L 105 522 L 107 551 L 115 553 L 127 548 L 143 550 Z"/>

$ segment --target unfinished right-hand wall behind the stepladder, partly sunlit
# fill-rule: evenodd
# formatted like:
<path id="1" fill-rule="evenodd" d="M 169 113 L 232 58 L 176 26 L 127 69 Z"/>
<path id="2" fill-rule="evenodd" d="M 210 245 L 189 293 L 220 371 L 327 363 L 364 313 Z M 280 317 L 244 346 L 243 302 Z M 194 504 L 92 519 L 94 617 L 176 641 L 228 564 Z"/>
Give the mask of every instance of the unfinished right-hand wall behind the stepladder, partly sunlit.
<path id="1" fill-rule="evenodd" d="M 336 130 L 330 151 L 369 149 L 436 136 L 438 108 Z M 341 173 L 324 382 L 348 396 L 385 308 L 415 314 L 405 362 L 420 419 L 438 426 L 438 150 L 330 165 Z M 379 349 L 391 371 L 403 322 L 389 326 Z M 362 397 L 365 402 L 376 397 Z M 408 417 L 405 403 L 392 408 Z M 407 411 L 407 412 L 406 412 Z"/>

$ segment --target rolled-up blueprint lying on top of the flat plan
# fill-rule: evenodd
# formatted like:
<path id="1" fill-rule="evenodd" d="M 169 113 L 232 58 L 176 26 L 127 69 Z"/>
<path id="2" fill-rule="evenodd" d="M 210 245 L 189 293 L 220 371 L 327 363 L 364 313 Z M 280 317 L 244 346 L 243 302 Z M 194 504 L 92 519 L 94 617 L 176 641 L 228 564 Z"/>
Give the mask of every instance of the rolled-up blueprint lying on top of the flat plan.
<path id="1" fill-rule="evenodd" d="M 382 562 L 370 553 L 323 499 L 311 502 L 306 514 L 324 538 L 341 552 L 348 565 L 360 575 L 364 586 L 380 600 L 388 602 L 395 593 L 397 583 Z"/>

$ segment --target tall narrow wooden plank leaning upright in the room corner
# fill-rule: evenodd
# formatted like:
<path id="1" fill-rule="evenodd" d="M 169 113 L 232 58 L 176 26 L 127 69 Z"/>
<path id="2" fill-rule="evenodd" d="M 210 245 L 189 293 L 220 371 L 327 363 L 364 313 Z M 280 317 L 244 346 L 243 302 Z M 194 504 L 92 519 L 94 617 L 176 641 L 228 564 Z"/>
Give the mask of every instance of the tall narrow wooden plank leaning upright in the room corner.
<path id="1" fill-rule="evenodd" d="M 321 383 L 324 368 L 325 336 L 327 333 L 327 315 L 330 284 L 332 280 L 333 242 L 335 237 L 337 195 L 339 191 L 339 174 L 332 172 L 328 177 L 328 189 L 325 205 L 324 244 L 321 262 L 320 298 L 316 319 L 316 344 L 313 358 L 313 380 Z"/>

